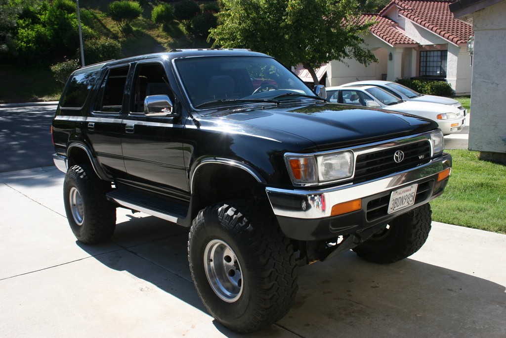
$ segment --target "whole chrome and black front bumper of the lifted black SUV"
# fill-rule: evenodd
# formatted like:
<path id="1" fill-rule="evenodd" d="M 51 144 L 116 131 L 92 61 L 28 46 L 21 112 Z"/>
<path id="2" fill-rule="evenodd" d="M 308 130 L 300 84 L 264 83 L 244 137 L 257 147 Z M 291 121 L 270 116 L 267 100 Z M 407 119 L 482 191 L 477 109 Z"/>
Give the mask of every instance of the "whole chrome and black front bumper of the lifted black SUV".
<path id="1" fill-rule="evenodd" d="M 441 195 L 448 182 L 438 174 L 451 168 L 451 156 L 443 154 L 431 162 L 379 179 L 321 190 L 287 190 L 267 187 L 266 192 L 284 234 L 298 240 L 321 240 L 359 233 L 387 224 L 396 216 L 428 203 Z M 417 183 L 415 203 L 411 207 L 388 213 L 393 191 Z M 360 210 L 332 216 L 332 206 L 361 199 Z"/>

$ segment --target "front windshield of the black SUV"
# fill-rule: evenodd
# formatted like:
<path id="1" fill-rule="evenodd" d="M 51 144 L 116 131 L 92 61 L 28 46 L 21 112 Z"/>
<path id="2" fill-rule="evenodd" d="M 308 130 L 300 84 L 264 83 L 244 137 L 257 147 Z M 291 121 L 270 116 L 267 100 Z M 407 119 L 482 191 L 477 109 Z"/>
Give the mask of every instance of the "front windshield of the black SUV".
<path id="1" fill-rule="evenodd" d="M 270 57 L 211 56 L 175 60 L 177 72 L 193 107 L 240 102 L 272 102 L 293 93 L 315 94 L 292 72 Z M 283 95 L 283 100 L 304 99 Z"/>

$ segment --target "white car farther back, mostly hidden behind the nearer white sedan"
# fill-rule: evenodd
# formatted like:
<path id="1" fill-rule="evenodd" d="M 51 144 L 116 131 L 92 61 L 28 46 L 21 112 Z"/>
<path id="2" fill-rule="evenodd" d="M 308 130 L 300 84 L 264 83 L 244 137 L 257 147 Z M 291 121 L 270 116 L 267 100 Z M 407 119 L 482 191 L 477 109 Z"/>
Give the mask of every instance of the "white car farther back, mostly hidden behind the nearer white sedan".
<path id="1" fill-rule="evenodd" d="M 460 111 L 464 116 L 466 116 L 467 113 L 466 108 L 462 107 L 462 104 L 457 100 L 444 96 L 420 94 L 412 90 L 411 88 L 403 86 L 397 82 L 381 81 L 381 80 L 365 80 L 365 81 L 350 82 L 345 85 L 342 85 L 341 87 L 344 86 L 376 86 L 386 90 L 390 94 L 394 94 L 401 100 L 415 101 L 415 102 L 432 102 L 432 103 L 452 105 L 460 109 Z"/>

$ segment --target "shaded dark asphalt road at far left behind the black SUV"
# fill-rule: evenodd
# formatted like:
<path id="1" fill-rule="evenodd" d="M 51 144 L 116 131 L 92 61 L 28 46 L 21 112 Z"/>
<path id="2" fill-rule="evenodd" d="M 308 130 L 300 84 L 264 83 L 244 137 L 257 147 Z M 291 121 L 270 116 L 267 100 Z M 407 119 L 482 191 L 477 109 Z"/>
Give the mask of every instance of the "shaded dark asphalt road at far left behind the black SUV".
<path id="1" fill-rule="evenodd" d="M 0 172 L 53 164 L 51 119 L 56 104 L 0 105 Z"/>

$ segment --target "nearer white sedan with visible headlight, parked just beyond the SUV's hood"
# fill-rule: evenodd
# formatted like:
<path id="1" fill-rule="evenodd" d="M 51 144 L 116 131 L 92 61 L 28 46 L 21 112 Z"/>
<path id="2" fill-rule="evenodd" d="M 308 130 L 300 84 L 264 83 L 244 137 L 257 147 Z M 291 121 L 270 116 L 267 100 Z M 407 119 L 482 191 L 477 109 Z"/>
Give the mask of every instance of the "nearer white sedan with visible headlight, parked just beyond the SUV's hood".
<path id="1" fill-rule="evenodd" d="M 401 100 L 375 86 L 327 87 L 326 91 L 329 102 L 406 112 L 436 121 L 444 135 L 460 131 L 466 125 L 466 117 L 457 107 L 440 103 Z"/>

